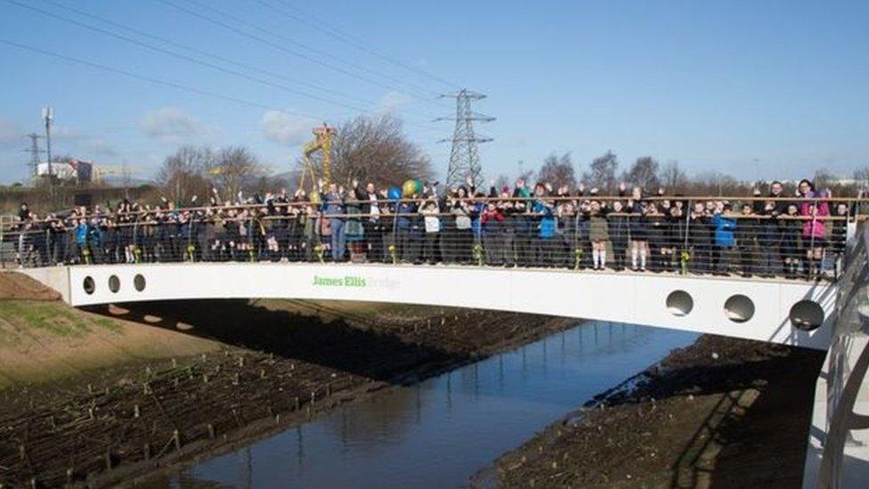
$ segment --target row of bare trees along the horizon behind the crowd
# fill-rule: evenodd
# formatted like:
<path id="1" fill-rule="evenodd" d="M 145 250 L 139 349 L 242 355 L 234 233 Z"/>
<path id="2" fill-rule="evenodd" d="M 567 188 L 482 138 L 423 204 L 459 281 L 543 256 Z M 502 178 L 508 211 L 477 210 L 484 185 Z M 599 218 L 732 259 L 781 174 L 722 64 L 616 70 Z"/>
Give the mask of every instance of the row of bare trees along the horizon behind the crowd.
<path id="1" fill-rule="evenodd" d="M 313 154 L 309 161 L 317 175 L 321 175 L 321 154 Z M 218 150 L 183 146 L 166 157 L 156 181 L 167 200 L 183 201 L 192 195 L 210 195 L 212 189 L 224 198 L 233 199 L 238 192 L 249 195 L 276 192 L 281 188 L 291 192 L 304 169 L 305 161 L 299 157 L 290 171 L 271 175 L 254 152 L 243 146 Z M 337 183 L 357 179 L 387 186 L 400 185 L 408 179 L 430 181 L 435 171 L 431 159 L 404 133 L 402 121 L 387 114 L 361 116 L 337 126 L 331 151 L 331 175 Z M 553 188 L 597 189 L 602 194 L 614 194 L 621 183 L 625 183 L 642 187 L 649 193 L 660 190 L 670 195 L 740 196 L 767 192 L 769 184 L 740 181 L 718 170 L 688 175 L 678 161 L 661 164 L 652 156 L 643 156 L 622 166 L 613 151 L 592 159 L 582 172 L 571 153 L 552 153 L 542 160 L 539 169 L 527 170 L 519 177 L 530 183 L 547 182 Z M 809 177 L 818 188 L 830 188 L 837 195 L 857 195 L 869 187 L 869 167 L 857 170 L 851 183 L 839 182 L 824 169 Z M 491 182 L 501 187 L 512 185 L 514 180 L 516 178 L 508 175 L 499 175 Z M 785 183 L 785 186 L 795 184 Z"/>

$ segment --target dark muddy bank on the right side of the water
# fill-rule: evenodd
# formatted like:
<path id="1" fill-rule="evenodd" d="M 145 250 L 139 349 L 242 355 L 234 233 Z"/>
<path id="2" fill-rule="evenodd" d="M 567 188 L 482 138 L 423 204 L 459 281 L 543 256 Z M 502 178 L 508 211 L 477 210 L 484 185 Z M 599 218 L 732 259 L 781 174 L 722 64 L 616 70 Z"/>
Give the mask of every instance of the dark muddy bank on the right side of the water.
<path id="1" fill-rule="evenodd" d="M 703 336 L 551 425 L 474 481 L 799 487 L 823 360 L 816 350 Z"/>

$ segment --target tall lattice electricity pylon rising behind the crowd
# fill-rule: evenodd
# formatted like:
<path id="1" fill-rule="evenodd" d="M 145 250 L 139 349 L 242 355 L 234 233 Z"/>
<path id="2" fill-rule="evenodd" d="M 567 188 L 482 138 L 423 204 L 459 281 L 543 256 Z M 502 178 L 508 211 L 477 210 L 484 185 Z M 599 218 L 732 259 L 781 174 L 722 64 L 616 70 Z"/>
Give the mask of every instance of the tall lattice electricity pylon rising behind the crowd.
<path id="1" fill-rule="evenodd" d="M 444 94 L 442 98 L 456 99 L 455 118 L 436 118 L 435 121 L 454 120 L 456 128 L 452 139 L 442 139 L 438 143 L 452 143 L 450 151 L 450 167 L 447 169 L 447 185 L 458 186 L 467 182 L 470 178 L 475 185 L 482 183 L 483 168 L 480 167 L 480 155 L 477 152 L 477 144 L 489 143 L 491 137 L 481 136 L 474 131 L 475 122 L 491 122 L 495 118 L 477 113 L 471 110 L 471 102 L 486 98 L 484 94 L 471 92 L 467 88 L 459 90 L 456 94 Z"/>

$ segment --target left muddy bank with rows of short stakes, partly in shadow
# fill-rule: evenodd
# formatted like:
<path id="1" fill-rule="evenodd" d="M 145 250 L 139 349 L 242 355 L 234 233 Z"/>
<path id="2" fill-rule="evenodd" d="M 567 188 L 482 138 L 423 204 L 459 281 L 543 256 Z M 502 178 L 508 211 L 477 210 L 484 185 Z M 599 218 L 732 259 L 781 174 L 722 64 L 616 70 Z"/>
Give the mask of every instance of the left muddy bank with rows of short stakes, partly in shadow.
<path id="1" fill-rule="evenodd" d="M 197 346 L 197 355 L 131 355 L 123 365 L 0 390 L 0 486 L 133 485 L 338 403 L 576 324 L 449 308 L 243 300 L 74 315 L 129 330 L 181 331 L 207 346 Z"/>

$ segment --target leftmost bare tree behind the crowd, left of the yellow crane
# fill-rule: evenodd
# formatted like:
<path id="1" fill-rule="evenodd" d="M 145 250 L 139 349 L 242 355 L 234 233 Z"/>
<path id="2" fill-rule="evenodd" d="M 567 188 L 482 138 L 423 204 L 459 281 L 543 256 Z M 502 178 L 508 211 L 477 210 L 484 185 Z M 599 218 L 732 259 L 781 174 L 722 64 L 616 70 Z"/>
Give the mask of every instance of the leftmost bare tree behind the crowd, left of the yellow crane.
<path id="1" fill-rule="evenodd" d="M 207 195 L 211 186 L 206 169 L 214 164 L 215 155 L 207 148 L 182 146 L 163 160 L 157 173 L 157 183 L 166 199 L 173 202 L 189 200 L 194 195 Z"/>

